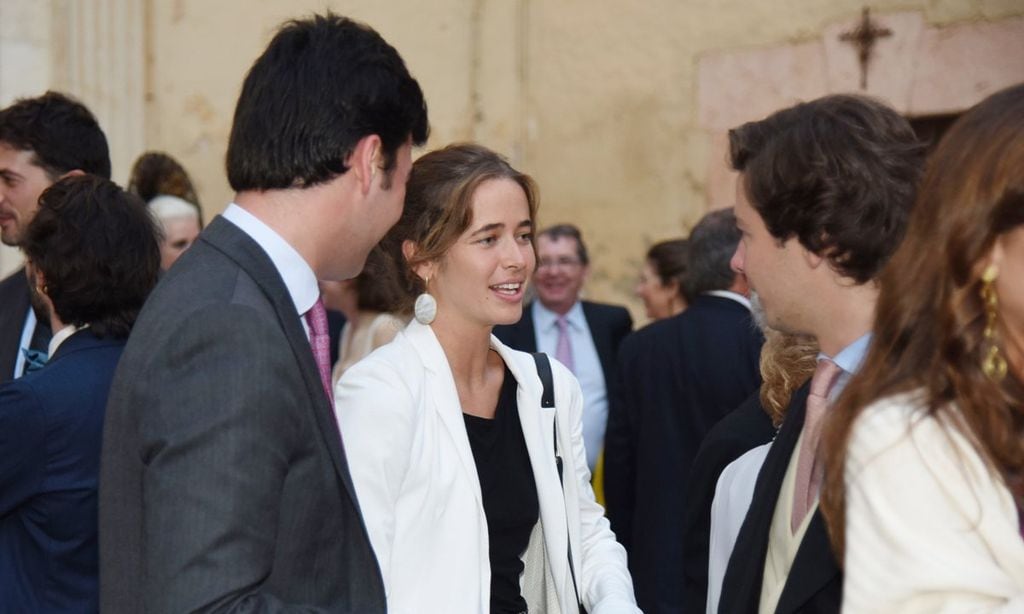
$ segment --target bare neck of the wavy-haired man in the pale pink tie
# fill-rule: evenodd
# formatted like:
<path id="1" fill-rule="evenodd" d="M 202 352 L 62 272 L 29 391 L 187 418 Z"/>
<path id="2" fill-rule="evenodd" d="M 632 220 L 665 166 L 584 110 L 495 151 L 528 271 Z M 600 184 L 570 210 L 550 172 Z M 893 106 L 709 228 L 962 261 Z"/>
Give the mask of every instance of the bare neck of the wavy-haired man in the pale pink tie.
<path id="1" fill-rule="evenodd" d="M 823 302 L 813 333 L 818 347 L 830 357 L 871 332 L 879 298 L 873 282 L 840 288 L 837 293 L 830 302 Z"/>

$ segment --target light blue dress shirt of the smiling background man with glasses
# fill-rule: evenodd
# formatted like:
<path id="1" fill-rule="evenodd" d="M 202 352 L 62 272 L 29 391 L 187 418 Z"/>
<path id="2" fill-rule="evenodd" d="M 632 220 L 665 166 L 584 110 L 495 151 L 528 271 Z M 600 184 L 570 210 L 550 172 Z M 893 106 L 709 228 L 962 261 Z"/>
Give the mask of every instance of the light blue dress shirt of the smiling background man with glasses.
<path id="1" fill-rule="evenodd" d="M 558 314 L 540 301 L 534 301 L 532 310 L 537 350 L 554 358 L 558 344 Z M 583 441 L 587 448 L 587 467 L 593 473 L 604 447 L 604 431 L 608 427 L 608 390 L 601 358 L 580 301 L 565 313 L 565 319 L 569 323 L 569 343 L 572 346 L 572 372 L 583 389 Z"/>

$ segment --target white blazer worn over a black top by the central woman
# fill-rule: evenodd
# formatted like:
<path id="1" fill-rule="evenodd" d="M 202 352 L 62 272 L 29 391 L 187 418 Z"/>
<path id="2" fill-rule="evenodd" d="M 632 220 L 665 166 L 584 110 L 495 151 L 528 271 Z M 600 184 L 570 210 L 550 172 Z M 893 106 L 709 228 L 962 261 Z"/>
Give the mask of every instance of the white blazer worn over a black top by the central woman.
<path id="1" fill-rule="evenodd" d="M 591 614 L 636 613 L 626 552 L 594 500 L 583 444 L 583 398 L 556 360 L 555 408 L 541 407 L 534 357 L 494 336 L 516 382 L 540 522 L 523 557 L 531 614 L 579 611 L 569 569 Z M 413 320 L 345 371 L 336 409 L 362 518 L 392 614 L 486 614 L 490 566 L 479 479 L 455 380 L 429 326 Z M 564 471 L 554 456 L 554 421 Z"/>

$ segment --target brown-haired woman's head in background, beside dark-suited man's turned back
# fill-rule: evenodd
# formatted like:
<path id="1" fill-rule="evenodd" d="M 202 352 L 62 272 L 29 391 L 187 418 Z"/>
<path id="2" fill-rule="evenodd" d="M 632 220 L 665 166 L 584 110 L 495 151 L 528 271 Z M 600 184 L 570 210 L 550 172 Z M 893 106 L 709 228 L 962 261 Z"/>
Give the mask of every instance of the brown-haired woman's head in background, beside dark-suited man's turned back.
<path id="1" fill-rule="evenodd" d="M 654 244 L 647 250 L 636 295 L 651 320 L 682 313 L 689 303 L 683 291 L 688 245 L 685 238 L 676 238 Z"/>

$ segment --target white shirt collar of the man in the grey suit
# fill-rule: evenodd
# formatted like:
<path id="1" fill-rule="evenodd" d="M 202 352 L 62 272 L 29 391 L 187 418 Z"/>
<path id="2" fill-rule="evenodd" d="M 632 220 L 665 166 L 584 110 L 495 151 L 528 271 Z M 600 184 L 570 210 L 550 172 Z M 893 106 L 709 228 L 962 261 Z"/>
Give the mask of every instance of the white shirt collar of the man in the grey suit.
<path id="1" fill-rule="evenodd" d="M 299 315 L 309 311 L 319 298 L 319 287 L 313 269 L 302 255 L 272 228 L 234 203 L 228 205 L 221 215 L 252 237 L 270 257 Z"/>

